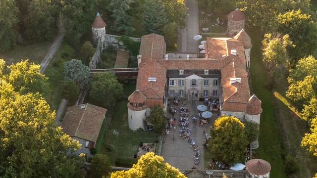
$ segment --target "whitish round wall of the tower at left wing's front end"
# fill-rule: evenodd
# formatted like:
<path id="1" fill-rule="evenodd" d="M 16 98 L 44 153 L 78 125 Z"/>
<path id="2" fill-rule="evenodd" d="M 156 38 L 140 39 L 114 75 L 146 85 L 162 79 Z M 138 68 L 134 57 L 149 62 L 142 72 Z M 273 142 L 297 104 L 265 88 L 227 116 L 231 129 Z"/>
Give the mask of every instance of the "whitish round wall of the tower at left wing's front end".
<path id="1" fill-rule="evenodd" d="M 129 128 L 133 131 L 136 131 L 140 128 L 143 128 L 143 120 L 146 119 L 147 109 L 141 111 L 133 111 L 128 108 L 128 118 L 129 118 Z"/>

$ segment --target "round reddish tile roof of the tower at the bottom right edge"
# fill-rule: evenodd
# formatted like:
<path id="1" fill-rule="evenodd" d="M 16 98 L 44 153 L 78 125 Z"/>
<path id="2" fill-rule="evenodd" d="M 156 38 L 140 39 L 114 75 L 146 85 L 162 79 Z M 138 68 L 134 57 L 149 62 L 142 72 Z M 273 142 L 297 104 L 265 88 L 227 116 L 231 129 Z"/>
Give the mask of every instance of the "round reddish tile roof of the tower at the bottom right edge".
<path id="1" fill-rule="evenodd" d="M 251 159 L 246 163 L 246 170 L 254 175 L 265 175 L 271 171 L 271 165 L 262 159 Z"/>

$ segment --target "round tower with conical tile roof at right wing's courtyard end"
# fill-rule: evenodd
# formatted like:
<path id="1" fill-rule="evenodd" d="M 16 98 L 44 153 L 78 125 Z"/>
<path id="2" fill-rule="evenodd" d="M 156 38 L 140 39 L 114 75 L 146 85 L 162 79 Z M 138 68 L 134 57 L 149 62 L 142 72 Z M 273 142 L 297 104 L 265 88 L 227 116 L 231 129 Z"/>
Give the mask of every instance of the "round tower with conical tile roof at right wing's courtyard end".
<path id="1" fill-rule="evenodd" d="M 246 121 L 255 122 L 260 125 L 260 118 L 262 113 L 261 100 L 254 94 L 250 97 L 247 104 Z M 251 143 L 251 148 L 259 147 L 259 138 Z"/>

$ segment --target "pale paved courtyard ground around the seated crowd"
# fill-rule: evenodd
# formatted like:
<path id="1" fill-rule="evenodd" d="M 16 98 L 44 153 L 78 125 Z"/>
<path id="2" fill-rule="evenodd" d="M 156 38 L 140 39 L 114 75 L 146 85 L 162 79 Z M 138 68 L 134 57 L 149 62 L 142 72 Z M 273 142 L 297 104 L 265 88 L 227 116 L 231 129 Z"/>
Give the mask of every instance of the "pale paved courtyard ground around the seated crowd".
<path id="1" fill-rule="evenodd" d="M 165 135 L 165 142 L 162 145 L 161 150 L 161 156 L 163 156 L 165 162 L 169 163 L 170 165 L 183 169 L 183 170 L 190 170 L 194 165 L 194 155 L 195 152 L 191 145 L 187 142 L 186 138 L 181 138 L 179 136 L 179 129 L 178 126 L 178 119 L 179 119 L 179 108 L 180 107 L 189 107 L 191 115 L 197 114 L 196 106 L 199 104 L 202 104 L 202 102 L 194 101 L 190 102 L 186 100 L 186 105 L 183 105 L 182 103 L 179 106 L 176 106 L 177 113 L 175 114 L 176 118 L 176 129 L 171 129 L 170 133 Z M 167 109 L 168 110 L 168 109 Z M 172 118 L 172 115 L 168 112 L 167 116 L 169 118 Z M 216 116 L 216 114 L 214 114 Z M 191 119 L 189 122 L 189 128 L 192 130 L 190 137 L 195 140 L 196 144 L 200 148 L 200 163 L 196 165 L 199 170 L 204 169 L 204 145 L 203 142 L 205 141 L 205 135 L 204 135 L 204 129 L 206 128 L 208 132 L 208 128 L 210 127 L 210 124 L 213 124 L 215 117 L 212 117 L 210 120 L 209 125 L 204 125 L 203 127 L 198 126 L 198 121 L 194 123 Z M 175 137 L 175 140 L 173 141 L 173 134 Z"/>

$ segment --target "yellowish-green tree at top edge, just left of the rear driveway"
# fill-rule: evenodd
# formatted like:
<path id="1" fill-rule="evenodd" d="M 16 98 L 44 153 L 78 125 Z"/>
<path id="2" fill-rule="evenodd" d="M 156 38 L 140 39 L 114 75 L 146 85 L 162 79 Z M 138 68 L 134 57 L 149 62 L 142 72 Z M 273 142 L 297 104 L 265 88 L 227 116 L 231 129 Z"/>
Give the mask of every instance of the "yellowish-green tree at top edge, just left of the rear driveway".
<path id="1" fill-rule="evenodd" d="M 181 29 L 186 27 L 187 7 L 185 0 L 162 0 L 169 22 Z"/>

